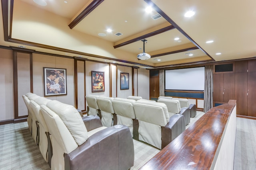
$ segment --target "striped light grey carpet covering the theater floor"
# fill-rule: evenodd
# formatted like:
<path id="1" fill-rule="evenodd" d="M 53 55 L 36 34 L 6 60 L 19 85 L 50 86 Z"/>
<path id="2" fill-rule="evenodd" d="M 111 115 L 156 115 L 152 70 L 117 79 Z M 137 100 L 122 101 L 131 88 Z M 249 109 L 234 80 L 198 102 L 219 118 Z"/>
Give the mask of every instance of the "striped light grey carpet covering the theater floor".
<path id="1" fill-rule="evenodd" d="M 203 113 L 197 113 L 188 128 Z M 234 170 L 256 170 L 256 120 L 237 118 Z M 134 140 L 131 170 L 145 164 L 160 150 Z M 0 170 L 50 170 L 28 130 L 27 122 L 0 125 Z"/>

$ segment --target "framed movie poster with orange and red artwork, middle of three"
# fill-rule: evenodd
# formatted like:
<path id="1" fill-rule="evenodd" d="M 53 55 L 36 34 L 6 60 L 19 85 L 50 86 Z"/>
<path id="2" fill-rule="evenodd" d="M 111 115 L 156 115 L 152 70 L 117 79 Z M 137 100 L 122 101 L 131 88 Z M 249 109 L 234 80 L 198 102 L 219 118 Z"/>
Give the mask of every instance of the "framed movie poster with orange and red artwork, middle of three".
<path id="1" fill-rule="evenodd" d="M 104 72 L 92 71 L 92 92 L 104 92 Z"/>

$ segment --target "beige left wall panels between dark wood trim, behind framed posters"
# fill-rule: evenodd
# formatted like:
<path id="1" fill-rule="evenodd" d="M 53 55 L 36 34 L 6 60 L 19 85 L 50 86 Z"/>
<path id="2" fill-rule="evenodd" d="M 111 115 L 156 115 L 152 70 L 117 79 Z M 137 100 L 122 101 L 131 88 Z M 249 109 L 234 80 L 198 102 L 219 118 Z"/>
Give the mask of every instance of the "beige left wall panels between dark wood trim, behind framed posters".
<path id="1" fill-rule="evenodd" d="M 13 51 L 8 49 L 0 49 L 0 121 L 14 119 L 14 92 L 13 92 Z M 18 61 L 18 116 L 28 115 L 26 105 L 22 99 L 22 95 L 30 92 L 30 54 L 17 53 Z M 84 81 L 84 62 L 85 62 L 85 81 Z M 67 95 L 63 96 L 46 96 L 52 100 L 75 105 L 74 91 L 74 59 L 55 57 L 50 55 L 32 54 L 33 65 L 33 92 L 39 96 L 44 96 L 44 72 L 43 68 L 62 68 L 66 69 Z M 111 84 L 110 90 L 110 69 Z M 84 110 L 84 94 L 95 94 L 99 96 L 112 96 L 127 98 L 132 95 L 132 68 L 129 66 L 116 66 L 108 63 L 97 63 L 92 61 L 78 61 L 78 109 Z M 91 88 L 91 72 L 102 71 L 105 73 L 105 91 L 93 92 Z M 129 73 L 129 89 L 120 90 L 120 72 Z M 86 82 L 84 84 L 84 82 Z M 137 86 L 138 84 L 138 86 Z M 85 91 L 84 91 L 85 89 Z M 134 69 L 134 95 L 142 96 L 149 99 L 149 70 L 140 68 Z M 111 94 L 110 94 L 111 93 Z"/>

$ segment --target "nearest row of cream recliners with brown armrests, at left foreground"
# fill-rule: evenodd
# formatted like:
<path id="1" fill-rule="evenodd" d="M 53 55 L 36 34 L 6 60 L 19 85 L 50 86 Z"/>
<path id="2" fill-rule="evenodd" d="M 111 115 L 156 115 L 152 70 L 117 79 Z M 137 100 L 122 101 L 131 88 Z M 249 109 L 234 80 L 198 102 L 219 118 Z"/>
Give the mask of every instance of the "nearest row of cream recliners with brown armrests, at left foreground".
<path id="1" fill-rule="evenodd" d="M 98 116 L 81 116 L 74 106 L 33 93 L 22 97 L 32 137 L 51 169 L 127 170 L 134 165 L 127 126 L 104 127 Z"/>

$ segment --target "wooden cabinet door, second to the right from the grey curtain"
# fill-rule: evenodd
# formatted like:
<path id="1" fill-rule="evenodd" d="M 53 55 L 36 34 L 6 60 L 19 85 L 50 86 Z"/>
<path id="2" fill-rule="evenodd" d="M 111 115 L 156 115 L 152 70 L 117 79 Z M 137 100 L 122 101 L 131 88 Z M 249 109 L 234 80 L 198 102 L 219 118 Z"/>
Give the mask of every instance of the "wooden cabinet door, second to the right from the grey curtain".
<path id="1" fill-rule="evenodd" d="M 235 73 L 223 74 L 223 102 L 235 99 Z"/>

